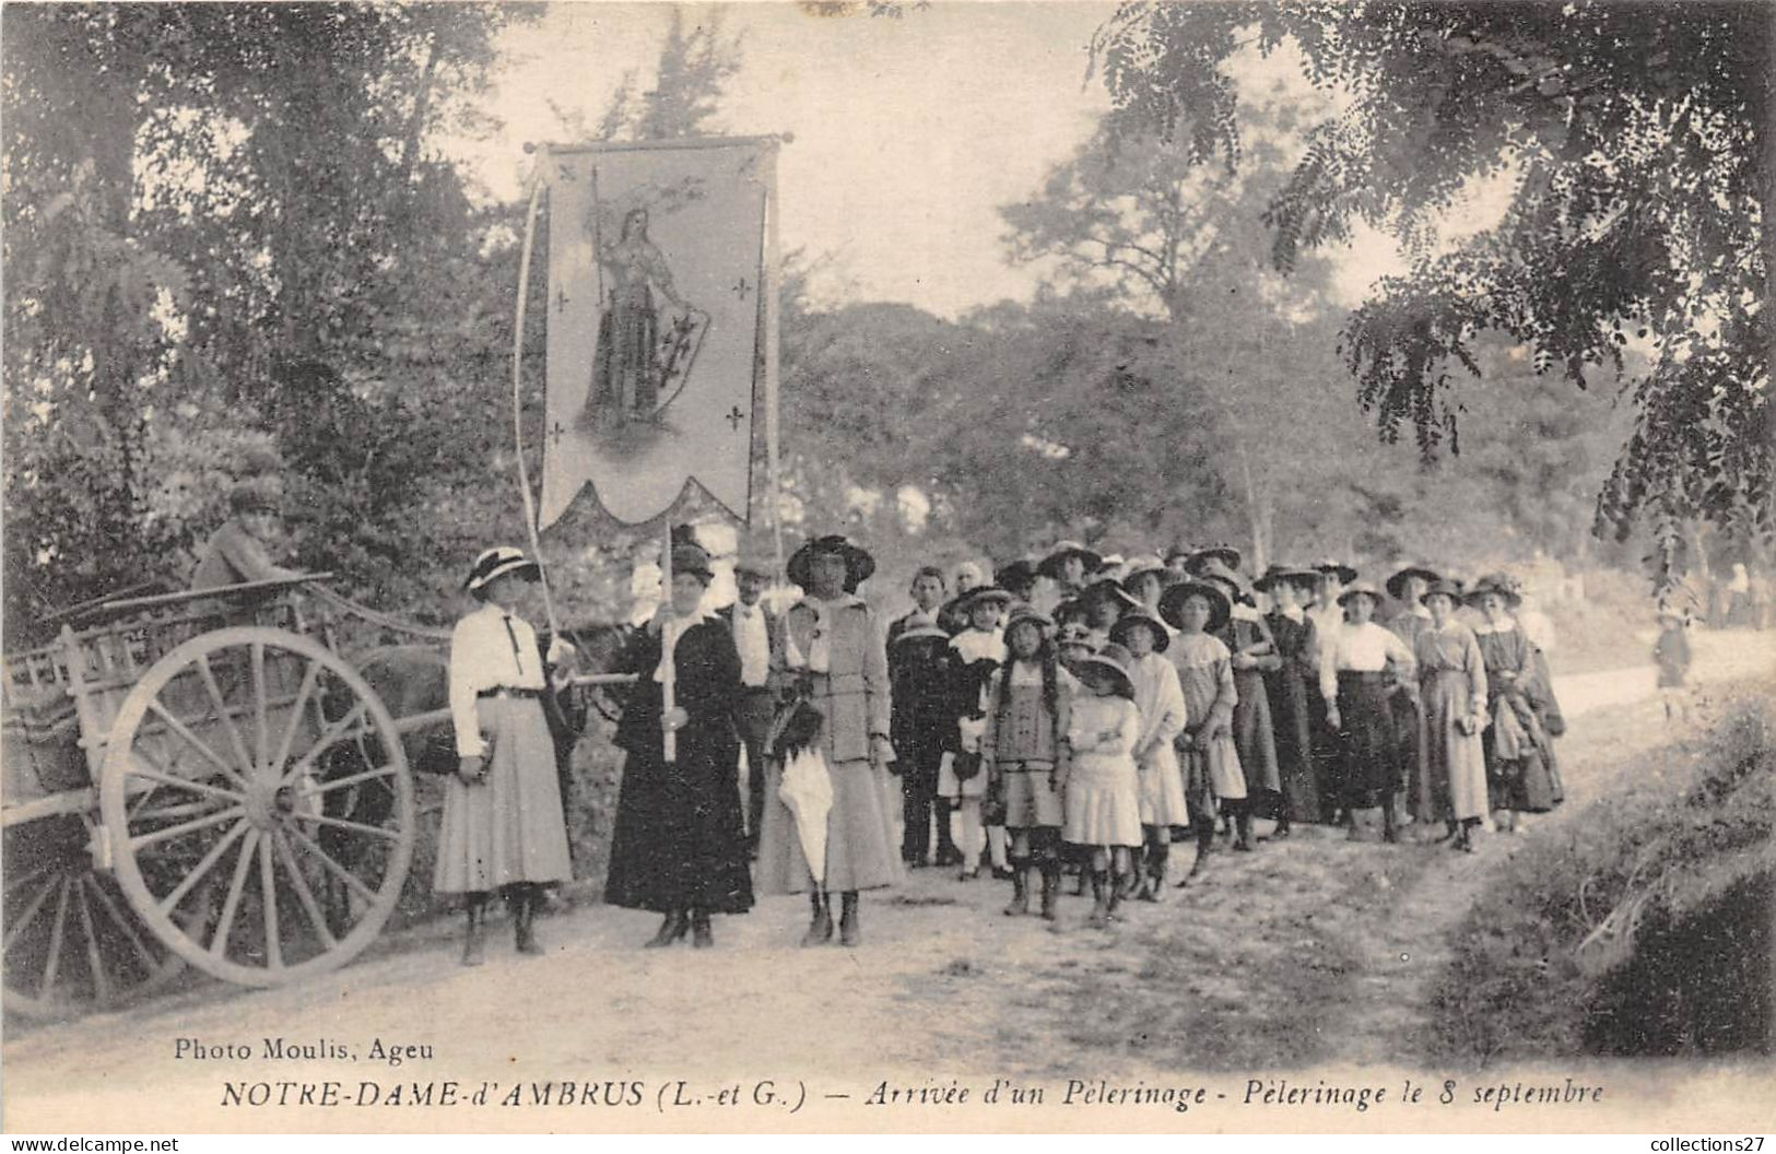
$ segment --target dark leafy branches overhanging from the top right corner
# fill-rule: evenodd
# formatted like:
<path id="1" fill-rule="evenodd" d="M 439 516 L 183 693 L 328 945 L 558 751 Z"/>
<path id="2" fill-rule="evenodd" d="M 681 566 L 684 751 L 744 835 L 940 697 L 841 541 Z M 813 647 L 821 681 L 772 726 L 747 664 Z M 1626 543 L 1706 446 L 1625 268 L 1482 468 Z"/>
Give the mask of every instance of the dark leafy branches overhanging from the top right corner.
<path id="1" fill-rule="evenodd" d="M 1359 398 L 1385 439 L 1424 453 L 1456 433 L 1462 369 L 1502 332 L 1579 387 L 1623 376 L 1636 424 L 1597 502 L 1598 531 L 1650 520 L 1659 573 L 1684 566 L 1691 517 L 1767 534 L 1772 426 L 1762 224 L 1771 25 L 1760 5 L 1124 4 L 1094 46 L 1126 131 L 1193 162 L 1241 163 L 1247 46 L 1295 44 L 1307 80 L 1344 98 L 1270 201 L 1279 268 L 1353 222 L 1408 243 L 1412 270 L 1344 328 Z M 1508 176 L 1502 220 L 1451 250 L 1437 215 L 1471 181 Z"/>

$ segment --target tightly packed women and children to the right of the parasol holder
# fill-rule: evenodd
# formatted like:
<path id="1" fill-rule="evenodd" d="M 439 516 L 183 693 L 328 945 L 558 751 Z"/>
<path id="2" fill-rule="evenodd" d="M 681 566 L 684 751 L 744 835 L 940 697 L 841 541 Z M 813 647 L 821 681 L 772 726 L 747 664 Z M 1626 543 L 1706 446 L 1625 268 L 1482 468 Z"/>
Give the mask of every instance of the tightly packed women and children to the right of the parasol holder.
<path id="1" fill-rule="evenodd" d="M 1039 886 L 1050 920 L 1076 868 L 1105 925 L 1163 897 L 1174 842 L 1190 886 L 1217 833 L 1256 850 L 1256 822 L 1472 850 L 1561 801 L 1565 726 L 1510 577 L 1407 566 L 1384 593 L 1337 561 L 1240 566 L 1062 541 L 954 591 L 922 568 L 886 630 L 904 863 L 991 865 L 1009 914 Z"/>

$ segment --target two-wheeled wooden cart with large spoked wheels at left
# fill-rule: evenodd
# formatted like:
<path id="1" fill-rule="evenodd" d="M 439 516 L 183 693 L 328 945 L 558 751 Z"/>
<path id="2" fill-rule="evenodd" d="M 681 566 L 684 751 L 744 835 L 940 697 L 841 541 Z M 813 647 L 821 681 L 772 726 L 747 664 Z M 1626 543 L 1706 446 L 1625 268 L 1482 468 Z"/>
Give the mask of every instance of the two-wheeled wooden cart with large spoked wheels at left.
<path id="1" fill-rule="evenodd" d="M 5 657 L 9 1010 L 115 1005 L 185 964 L 277 985 L 377 937 L 414 785 L 313 579 L 101 602 Z"/>

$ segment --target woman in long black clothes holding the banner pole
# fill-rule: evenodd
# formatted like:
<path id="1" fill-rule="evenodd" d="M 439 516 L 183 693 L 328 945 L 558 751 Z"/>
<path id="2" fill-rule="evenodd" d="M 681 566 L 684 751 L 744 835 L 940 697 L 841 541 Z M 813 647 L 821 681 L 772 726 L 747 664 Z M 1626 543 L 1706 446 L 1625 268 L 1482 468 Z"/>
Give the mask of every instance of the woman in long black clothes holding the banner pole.
<path id="1" fill-rule="evenodd" d="M 670 946 L 686 930 L 691 945 L 712 946 L 709 916 L 744 914 L 753 905 L 733 728 L 741 655 L 732 628 L 702 609 L 709 582 L 709 554 L 675 545 L 671 605 L 661 607 L 622 662 L 638 682 L 616 724 L 629 760 L 604 900 L 666 914 L 648 946 Z M 670 714 L 662 710 L 662 634 L 673 646 Z M 666 730 L 678 746 L 671 763 L 662 751 Z"/>

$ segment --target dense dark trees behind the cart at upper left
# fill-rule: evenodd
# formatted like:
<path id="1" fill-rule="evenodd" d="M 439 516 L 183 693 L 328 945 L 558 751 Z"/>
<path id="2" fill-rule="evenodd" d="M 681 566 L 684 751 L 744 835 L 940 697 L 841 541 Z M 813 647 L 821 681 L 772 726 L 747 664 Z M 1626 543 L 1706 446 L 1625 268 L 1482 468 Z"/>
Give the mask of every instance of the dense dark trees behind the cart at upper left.
<path id="1" fill-rule="evenodd" d="M 403 424 L 391 398 L 423 410 L 414 398 L 437 382 L 407 376 L 384 341 L 448 291 L 453 245 L 480 245 L 456 172 L 428 147 L 472 128 L 464 98 L 513 18 L 474 4 L 5 9 L 9 627 L 183 579 L 220 511 L 218 467 L 254 426 L 300 431 L 305 403 L 348 403 L 353 435 L 281 446 L 329 506 L 298 518 L 298 547 L 359 524 L 389 541 L 380 575 L 398 572 L 403 451 L 444 423 Z M 295 369 L 311 362 L 330 376 Z M 323 378 L 343 382 L 332 399 L 309 392 Z"/>

